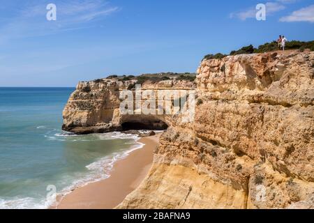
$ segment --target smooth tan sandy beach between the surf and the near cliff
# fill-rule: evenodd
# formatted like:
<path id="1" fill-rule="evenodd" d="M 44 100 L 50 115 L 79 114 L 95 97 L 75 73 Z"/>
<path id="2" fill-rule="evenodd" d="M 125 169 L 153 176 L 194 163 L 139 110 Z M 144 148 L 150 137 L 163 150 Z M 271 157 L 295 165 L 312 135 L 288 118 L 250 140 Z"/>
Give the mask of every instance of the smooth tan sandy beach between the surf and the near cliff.
<path id="1" fill-rule="evenodd" d="M 114 164 L 110 178 L 90 183 L 64 196 L 58 209 L 112 209 L 135 190 L 147 176 L 160 134 L 139 141 L 143 148 L 133 151 Z"/>

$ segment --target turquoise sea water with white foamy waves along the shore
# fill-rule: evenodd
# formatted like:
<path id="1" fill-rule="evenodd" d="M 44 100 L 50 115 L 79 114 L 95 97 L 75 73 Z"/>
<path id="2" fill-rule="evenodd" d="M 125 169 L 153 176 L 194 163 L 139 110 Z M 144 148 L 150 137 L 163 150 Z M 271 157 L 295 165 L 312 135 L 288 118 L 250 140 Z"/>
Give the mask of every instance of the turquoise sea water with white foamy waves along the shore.
<path id="1" fill-rule="evenodd" d="M 0 208 L 47 208 L 47 186 L 66 193 L 107 178 L 112 164 L 140 148 L 137 137 L 63 132 L 73 88 L 0 88 Z"/>

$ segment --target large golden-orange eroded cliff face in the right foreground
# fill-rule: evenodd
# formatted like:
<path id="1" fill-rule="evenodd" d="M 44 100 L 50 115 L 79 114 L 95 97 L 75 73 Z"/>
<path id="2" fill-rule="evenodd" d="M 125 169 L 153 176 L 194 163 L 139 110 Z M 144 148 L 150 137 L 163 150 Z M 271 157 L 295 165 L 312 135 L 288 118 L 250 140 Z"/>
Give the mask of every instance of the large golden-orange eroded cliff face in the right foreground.
<path id="1" fill-rule="evenodd" d="M 161 138 L 117 208 L 313 208 L 314 52 L 202 61 L 195 122 Z"/>

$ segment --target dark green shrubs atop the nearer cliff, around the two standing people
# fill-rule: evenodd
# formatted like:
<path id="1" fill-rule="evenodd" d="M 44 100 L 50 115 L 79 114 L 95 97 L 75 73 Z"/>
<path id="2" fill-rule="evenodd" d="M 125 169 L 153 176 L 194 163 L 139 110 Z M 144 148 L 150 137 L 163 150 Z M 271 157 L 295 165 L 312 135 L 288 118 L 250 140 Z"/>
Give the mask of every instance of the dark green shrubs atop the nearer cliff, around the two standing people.
<path id="1" fill-rule="evenodd" d="M 288 41 L 285 45 L 285 49 L 299 49 L 300 51 L 304 51 L 305 49 L 310 49 L 314 51 L 314 40 L 309 42 L 303 42 L 298 40 Z M 253 53 L 264 53 L 278 50 L 277 41 L 273 41 L 271 43 L 264 43 L 263 45 L 258 46 L 257 48 L 253 47 L 253 45 L 248 45 L 246 47 L 242 47 L 241 49 L 232 50 L 230 55 L 238 55 L 238 54 L 253 54 Z M 229 56 L 226 54 L 207 54 L 204 56 L 204 59 L 223 59 L 225 56 Z"/>

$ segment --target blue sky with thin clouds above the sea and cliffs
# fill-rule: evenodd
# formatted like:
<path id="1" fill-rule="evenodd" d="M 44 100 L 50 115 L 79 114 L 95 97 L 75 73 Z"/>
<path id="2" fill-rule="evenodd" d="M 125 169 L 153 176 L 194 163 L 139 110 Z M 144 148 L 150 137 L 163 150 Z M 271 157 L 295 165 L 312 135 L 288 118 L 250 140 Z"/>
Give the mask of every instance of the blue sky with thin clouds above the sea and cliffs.
<path id="1" fill-rule="evenodd" d="M 47 4 L 57 20 L 47 20 Z M 256 20 L 264 3 L 266 20 Z M 195 72 L 206 54 L 314 40 L 313 0 L 1 0 L 0 86 Z"/>

